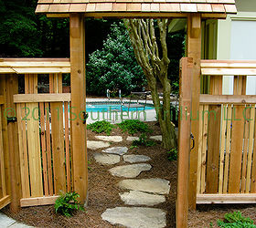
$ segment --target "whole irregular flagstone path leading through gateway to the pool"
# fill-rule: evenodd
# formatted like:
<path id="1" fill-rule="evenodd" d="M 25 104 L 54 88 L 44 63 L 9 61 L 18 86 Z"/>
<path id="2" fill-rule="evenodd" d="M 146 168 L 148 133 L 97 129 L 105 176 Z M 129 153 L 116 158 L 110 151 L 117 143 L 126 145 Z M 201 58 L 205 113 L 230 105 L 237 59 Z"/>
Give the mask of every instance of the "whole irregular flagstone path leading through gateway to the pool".
<path id="1" fill-rule="evenodd" d="M 112 224 L 119 224 L 129 228 L 162 228 L 166 226 L 165 212 L 160 208 L 151 208 L 165 202 L 165 195 L 170 191 L 169 181 L 160 178 L 135 179 L 143 171 L 151 171 L 151 158 L 141 154 L 126 154 L 127 147 L 110 147 L 109 142 L 121 142 L 121 136 L 97 136 L 97 140 L 90 143 L 94 148 L 106 148 L 93 154 L 95 161 L 102 165 L 114 165 L 109 171 L 116 178 L 127 178 L 118 182 L 119 193 L 124 205 L 128 207 L 109 208 L 101 214 L 101 218 Z M 138 137 L 127 137 L 126 140 L 137 140 Z M 162 140 L 162 136 L 152 136 L 152 140 Z M 108 144 L 104 144 L 108 143 Z M 97 144 L 97 145 L 95 145 Z M 108 145 L 108 146 L 107 146 Z M 92 148 L 92 146 L 91 146 Z M 92 149 L 93 150 L 93 149 Z M 96 149 L 94 149 L 96 150 Z M 124 163 L 124 164 L 123 164 Z M 127 164 L 130 163 L 130 164 Z M 131 164 L 132 163 L 132 164 Z"/>

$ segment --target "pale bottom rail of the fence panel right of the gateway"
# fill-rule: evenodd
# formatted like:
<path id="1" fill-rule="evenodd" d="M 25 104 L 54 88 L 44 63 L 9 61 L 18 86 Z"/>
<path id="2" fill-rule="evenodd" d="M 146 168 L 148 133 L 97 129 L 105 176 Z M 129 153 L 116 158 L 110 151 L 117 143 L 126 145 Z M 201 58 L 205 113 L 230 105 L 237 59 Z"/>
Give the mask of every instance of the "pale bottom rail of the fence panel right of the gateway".
<path id="1" fill-rule="evenodd" d="M 256 203 L 256 194 L 197 194 L 197 204 Z"/>

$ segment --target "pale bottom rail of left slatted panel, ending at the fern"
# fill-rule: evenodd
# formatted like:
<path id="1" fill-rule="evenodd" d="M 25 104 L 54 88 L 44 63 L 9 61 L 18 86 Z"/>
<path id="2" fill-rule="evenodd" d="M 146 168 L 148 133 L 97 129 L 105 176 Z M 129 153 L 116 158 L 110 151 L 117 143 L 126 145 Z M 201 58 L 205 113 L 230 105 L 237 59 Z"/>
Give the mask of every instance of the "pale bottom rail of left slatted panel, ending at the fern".
<path id="1" fill-rule="evenodd" d="M 21 199 L 20 206 L 21 207 L 30 207 L 30 206 L 54 204 L 56 202 L 56 200 L 58 199 L 58 197 L 59 197 L 59 195 Z"/>

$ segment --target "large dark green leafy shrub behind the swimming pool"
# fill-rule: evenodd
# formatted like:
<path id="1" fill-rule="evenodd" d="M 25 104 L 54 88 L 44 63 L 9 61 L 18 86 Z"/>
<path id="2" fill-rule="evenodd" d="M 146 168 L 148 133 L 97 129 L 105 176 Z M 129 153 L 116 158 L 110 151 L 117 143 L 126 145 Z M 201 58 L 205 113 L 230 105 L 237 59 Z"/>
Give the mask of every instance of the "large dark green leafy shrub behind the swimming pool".
<path id="1" fill-rule="evenodd" d="M 87 64 L 87 92 L 105 95 L 106 90 L 123 94 L 140 89 L 145 83 L 144 73 L 136 62 L 128 31 L 123 23 L 113 23 L 102 49 L 89 56 Z"/>

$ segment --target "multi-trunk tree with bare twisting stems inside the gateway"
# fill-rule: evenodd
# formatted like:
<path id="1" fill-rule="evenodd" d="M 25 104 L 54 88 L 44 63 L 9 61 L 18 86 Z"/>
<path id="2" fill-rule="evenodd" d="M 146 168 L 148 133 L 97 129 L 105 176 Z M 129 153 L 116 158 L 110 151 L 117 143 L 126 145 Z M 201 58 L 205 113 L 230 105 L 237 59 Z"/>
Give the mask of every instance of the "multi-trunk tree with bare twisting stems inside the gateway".
<path id="1" fill-rule="evenodd" d="M 143 68 L 156 109 L 157 119 L 163 135 L 163 146 L 170 150 L 176 148 L 175 126 L 171 122 L 172 91 L 168 79 L 170 59 L 166 45 L 169 19 L 125 19 L 133 50 L 138 64 Z M 156 29 L 159 29 L 158 38 Z M 163 87 L 163 100 L 159 98 L 157 81 Z"/>

